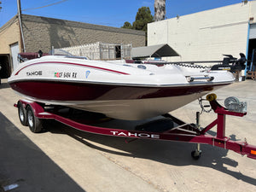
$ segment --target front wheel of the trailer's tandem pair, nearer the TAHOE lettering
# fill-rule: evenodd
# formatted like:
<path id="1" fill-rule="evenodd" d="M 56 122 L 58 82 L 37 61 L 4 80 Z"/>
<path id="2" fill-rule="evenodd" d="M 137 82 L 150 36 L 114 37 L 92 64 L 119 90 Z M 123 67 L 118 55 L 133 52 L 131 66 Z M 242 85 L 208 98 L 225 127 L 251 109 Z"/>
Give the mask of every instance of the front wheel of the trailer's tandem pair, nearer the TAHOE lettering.
<path id="1" fill-rule="evenodd" d="M 29 129 L 34 133 L 41 132 L 43 129 L 42 120 L 38 119 L 35 116 L 31 106 L 27 106 L 26 114 L 27 114 L 27 122 L 28 122 Z"/>

